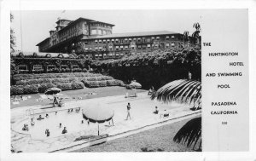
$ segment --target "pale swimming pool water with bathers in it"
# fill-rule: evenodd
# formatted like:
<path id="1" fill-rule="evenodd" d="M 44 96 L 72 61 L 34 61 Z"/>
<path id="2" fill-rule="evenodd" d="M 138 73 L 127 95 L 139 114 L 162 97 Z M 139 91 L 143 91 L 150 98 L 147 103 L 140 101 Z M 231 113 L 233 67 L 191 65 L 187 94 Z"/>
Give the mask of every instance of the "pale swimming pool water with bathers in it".
<path id="1" fill-rule="evenodd" d="M 15 129 L 20 133 L 31 135 L 33 140 L 45 140 L 52 137 L 65 135 L 61 134 L 64 127 L 67 128 L 67 135 L 82 130 L 96 129 L 97 127 L 97 124 L 88 124 L 87 120 L 83 118 L 82 110 L 79 112 L 75 112 L 75 110 L 73 110 L 73 112 L 62 110 L 58 111 L 56 114 L 55 112 L 47 112 L 47 114 L 49 115 L 47 118 L 45 117 L 46 113 L 35 114 L 34 117 L 29 117 L 21 121 L 16 125 Z M 38 120 L 37 118 L 39 115 L 41 115 L 44 119 Z M 31 118 L 33 118 L 33 122 L 35 123 L 33 126 L 31 125 Z M 82 120 L 84 121 L 84 124 L 82 124 Z M 28 124 L 28 131 L 22 130 L 24 124 Z M 45 134 L 46 129 L 49 129 L 49 136 L 46 136 Z"/>

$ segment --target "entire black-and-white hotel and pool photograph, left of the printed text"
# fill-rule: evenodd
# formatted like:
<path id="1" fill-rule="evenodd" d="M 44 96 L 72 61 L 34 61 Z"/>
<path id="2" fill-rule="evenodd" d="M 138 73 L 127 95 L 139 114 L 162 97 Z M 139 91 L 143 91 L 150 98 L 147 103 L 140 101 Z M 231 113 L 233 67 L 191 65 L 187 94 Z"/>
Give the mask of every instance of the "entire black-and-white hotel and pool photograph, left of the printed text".
<path id="1" fill-rule="evenodd" d="M 201 152 L 200 10 L 12 10 L 11 152 Z"/>

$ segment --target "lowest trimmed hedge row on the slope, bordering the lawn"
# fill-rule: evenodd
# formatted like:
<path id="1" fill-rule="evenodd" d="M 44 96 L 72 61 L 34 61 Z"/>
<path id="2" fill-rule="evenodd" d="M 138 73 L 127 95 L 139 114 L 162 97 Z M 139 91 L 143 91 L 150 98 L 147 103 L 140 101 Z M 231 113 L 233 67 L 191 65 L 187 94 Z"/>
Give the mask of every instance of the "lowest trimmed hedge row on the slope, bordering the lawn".
<path id="1" fill-rule="evenodd" d="M 10 95 L 27 95 L 27 94 L 36 94 L 44 93 L 46 89 L 58 87 L 61 90 L 70 90 L 70 89 L 84 89 L 84 83 L 73 81 L 71 83 L 42 83 L 39 85 L 13 85 L 10 88 Z"/>

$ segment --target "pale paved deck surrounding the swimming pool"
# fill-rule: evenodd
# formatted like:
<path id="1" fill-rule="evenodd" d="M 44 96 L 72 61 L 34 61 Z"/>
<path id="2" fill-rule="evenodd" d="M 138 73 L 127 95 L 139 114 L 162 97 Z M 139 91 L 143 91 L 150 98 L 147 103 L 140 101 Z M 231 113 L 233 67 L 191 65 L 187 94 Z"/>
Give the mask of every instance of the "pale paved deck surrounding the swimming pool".
<path id="1" fill-rule="evenodd" d="M 188 105 L 181 104 L 169 104 L 168 106 L 175 106 L 172 109 L 168 109 L 170 116 L 168 118 L 160 118 L 160 114 L 153 114 L 154 106 L 140 107 L 136 106 L 135 102 L 139 102 L 139 105 L 143 105 L 143 102 L 149 100 L 147 93 L 139 93 L 136 98 L 125 98 L 125 95 L 115 95 L 108 97 L 95 98 L 83 101 L 69 101 L 63 107 L 55 107 L 47 110 L 67 110 L 71 106 L 80 106 L 90 103 L 105 103 L 115 108 L 114 126 L 108 126 L 108 124 L 100 124 L 101 135 L 108 134 L 108 137 L 96 137 L 94 139 L 87 139 L 81 141 L 74 141 L 76 138 L 84 135 L 96 135 L 97 128 L 90 130 L 82 130 L 72 134 L 61 135 L 44 140 L 33 140 L 29 134 L 20 134 L 15 130 L 11 130 L 11 144 L 15 151 L 22 152 L 71 152 L 73 150 L 88 147 L 94 144 L 98 144 L 104 141 L 111 141 L 126 135 L 132 135 L 143 130 L 153 129 L 165 124 L 172 124 L 183 119 L 192 118 L 201 115 L 201 110 L 191 111 Z M 131 120 L 125 120 L 125 105 L 127 102 L 131 102 Z M 133 103 L 134 101 L 134 103 Z M 149 102 L 150 103 L 150 102 Z M 120 108 L 121 106 L 121 108 Z M 158 106 L 161 109 L 165 109 L 167 105 L 161 105 L 158 102 Z M 13 125 L 20 122 L 20 120 L 27 118 L 26 112 L 29 109 L 34 111 L 42 108 L 42 106 L 23 106 L 11 109 L 11 124 Z M 46 109 L 44 109 L 46 110 Z M 48 112 L 48 111 L 47 111 Z"/>

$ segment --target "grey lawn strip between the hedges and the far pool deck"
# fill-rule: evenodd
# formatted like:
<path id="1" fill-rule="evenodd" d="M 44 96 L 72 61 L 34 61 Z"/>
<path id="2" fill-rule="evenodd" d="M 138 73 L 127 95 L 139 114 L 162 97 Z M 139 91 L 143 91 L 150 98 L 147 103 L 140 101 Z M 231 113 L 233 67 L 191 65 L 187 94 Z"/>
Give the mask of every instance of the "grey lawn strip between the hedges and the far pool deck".
<path id="1" fill-rule="evenodd" d="M 137 89 L 137 92 L 142 92 L 145 91 L 143 89 Z M 88 94 L 90 92 L 96 93 L 97 95 L 84 95 Z M 125 93 L 133 93 L 131 89 L 125 89 L 125 87 L 119 87 L 119 86 L 112 86 L 112 87 L 99 87 L 99 88 L 85 88 L 84 89 L 75 89 L 75 90 L 66 90 L 61 92 L 63 95 L 67 95 L 70 98 L 65 99 L 64 101 L 75 101 L 78 99 L 78 97 L 81 97 L 82 100 L 85 99 L 92 99 L 92 98 L 99 98 L 99 97 L 106 97 L 106 96 L 113 96 L 113 95 L 124 95 Z M 49 99 L 44 100 L 44 101 L 37 101 L 40 99 L 40 95 L 44 94 L 33 94 L 30 95 L 31 98 L 26 100 L 26 101 L 20 101 L 20 104 L 14 105 L 11 102 L 11 108 L 16 108 L 20 106 L 33 106 L 33 105 L 48 105 L 52 104 L 53 101 L 50 101 Z M 28 95 L 23 95 L 23 96 L 28 96 Z M 73 99 L 73 97 L 75 99 Z"/>

